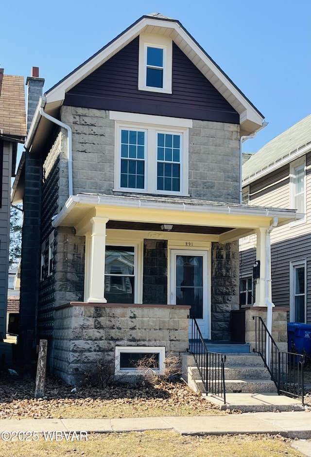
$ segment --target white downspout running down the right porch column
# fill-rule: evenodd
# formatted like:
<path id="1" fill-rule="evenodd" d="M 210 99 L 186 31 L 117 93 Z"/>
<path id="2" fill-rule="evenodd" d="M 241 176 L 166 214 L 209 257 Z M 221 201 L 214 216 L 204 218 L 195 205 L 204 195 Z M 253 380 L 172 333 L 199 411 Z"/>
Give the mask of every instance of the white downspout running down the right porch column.
<path id="1" fill-rule="evenodd" d="M 266 233 L 266 275 L 264 280 L 264 300 L 267 305 L 267 329 L 270 335 L 272 335 L 272 310 L 274 308 L 274 303 L 270 301 L 270 284 L 271 284 L 271 240 L 270 233 L 277 226 L 278 218 L 274 217 L 273 222 Z M 266 361 L 268 367 L 270 367 L 270 357 L 271 357 L 271 348 L 269 345 L 269 340 L 266 339 Z"/>

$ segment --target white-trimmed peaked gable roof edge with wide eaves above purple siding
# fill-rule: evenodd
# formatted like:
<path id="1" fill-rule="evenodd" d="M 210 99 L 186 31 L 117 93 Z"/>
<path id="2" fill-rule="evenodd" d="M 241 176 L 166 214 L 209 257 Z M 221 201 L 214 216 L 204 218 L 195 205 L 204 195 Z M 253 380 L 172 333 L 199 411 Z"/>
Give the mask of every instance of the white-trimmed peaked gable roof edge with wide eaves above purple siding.
<path id="1" fill-rule="evenodd" d="M 49 89 L 45 93 L 47 102 L 45 111 L 49 114 L 55 114 L 62 105 L 65 94 L 71 88 L 103 65 L 141 33 L 167 35 L 173 39 L 181 51 L 187 55 L 207 80 L 239 113 L 242 135 L 249 135 L 262 127 L 263 115 L 203 50 L 183 25 L 178 20 L 167 18 L 159 13 L 152 13 L 139 18 L 120 35 Z"/>

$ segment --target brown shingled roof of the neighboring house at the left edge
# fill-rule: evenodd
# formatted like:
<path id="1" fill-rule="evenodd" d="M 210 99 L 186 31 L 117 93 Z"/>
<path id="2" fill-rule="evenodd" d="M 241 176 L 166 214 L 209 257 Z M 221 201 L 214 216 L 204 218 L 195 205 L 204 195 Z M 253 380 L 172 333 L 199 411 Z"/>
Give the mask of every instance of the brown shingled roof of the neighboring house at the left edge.
<path id="1" fill-rule="evenodd" d="M 25 136 L 24 78 L 3 74 L 0 69 L 0 137 L 23 142 Z"/>

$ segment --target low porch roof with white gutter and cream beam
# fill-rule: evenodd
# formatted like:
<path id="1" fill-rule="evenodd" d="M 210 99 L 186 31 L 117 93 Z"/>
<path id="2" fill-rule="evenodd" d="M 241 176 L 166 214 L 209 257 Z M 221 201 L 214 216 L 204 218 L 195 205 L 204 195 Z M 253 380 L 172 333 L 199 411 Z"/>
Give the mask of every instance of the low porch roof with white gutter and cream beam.
<path id="1" fill-rule="evenodd" d="M 161 224 L 173 224 L 172 231 L 215 235 L 215 241 L 227 243 L 268 228 L 301 219 L 296 210 L 248 206 L 235 203 L 210 202 L 190 198 L 155 195 L 105 195 L 78 193 L 71 195 L 59 214 L 53 217 L 53 227 L 74 227 L 77 235 L 91 229 L 91 218 L 106 217 L 110 227 L 160 230 Z M 119 225 L 118 225 L 119 224 Z"/>

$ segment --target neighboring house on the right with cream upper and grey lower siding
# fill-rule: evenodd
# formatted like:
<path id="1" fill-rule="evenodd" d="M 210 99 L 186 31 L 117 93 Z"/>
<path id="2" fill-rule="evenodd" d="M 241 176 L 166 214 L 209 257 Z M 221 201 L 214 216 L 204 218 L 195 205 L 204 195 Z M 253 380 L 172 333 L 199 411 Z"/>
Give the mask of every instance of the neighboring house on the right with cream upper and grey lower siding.
<path id="1" fill-rule="evenodd" d="M 250 205 L 294 208 L 304 217 L 271 233 L 272 301 L 289 307 L 292 322 L 311 324 L 311 115 L 253 154 L 242 167 L 243 195 Z M 257 280 L 256 238 L 241 242 L 240 296 L 253 304 Z M 256 290 L 255 290 L 256 289 Z"/>

